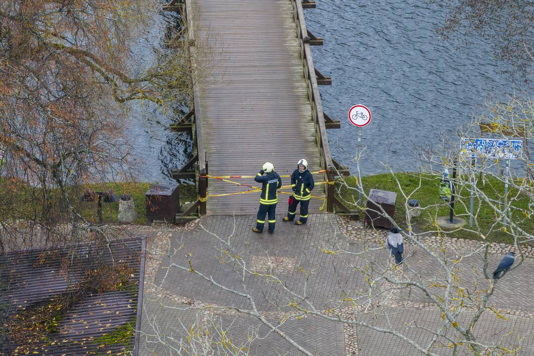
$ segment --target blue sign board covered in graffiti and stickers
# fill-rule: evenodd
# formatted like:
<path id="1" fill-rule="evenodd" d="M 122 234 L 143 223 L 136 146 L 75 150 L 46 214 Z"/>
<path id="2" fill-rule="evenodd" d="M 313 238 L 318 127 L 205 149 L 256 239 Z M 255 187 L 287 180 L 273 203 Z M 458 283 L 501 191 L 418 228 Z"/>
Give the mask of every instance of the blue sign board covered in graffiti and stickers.
<path id="1" fill-rule="evenodd" d="M 523 141 L 462 137 L 460 152 L 471 157 L 517 160 L 523 154 Z"/>

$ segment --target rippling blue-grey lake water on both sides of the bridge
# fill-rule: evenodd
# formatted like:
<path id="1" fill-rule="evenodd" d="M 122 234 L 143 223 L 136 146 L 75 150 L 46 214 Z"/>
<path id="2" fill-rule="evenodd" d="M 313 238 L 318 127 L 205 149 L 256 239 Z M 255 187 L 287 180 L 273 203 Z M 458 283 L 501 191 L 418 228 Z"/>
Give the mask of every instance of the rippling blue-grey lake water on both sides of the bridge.
<path id="1" fill-rule="evenodd" d="M 444 11 L 417 0 L 318 0 L 317 9 L 305 10 L 308 28 L 325 39 L 312 53 L 317 69 L 332 76 L 333 85 L 321 86 L 320 93 L 325 112 L 341 120 L 341 129 L 328 130 L 335 159 L 355 170 L 350 155 L 357 152 L 358 129 L 347 117 L 352 105 L 372 112 L 362 136 L 362 173 L 371 174 L 384 171 L 386 158 L 395 170 L 413 170 L 419 163 L 414 145 L 438 145 L 440 132 L 452 136 L 485 113 L 488 98 L 514 91 L 509 76 L 499 73 L 505 67 L 489 41 L 472 37 L 457 49 L 439 39 Z M 143 37 L 157 38 L 158 29 Z M 153 43 L 139 43 L 147 58 Z M 191 155 L 191 139 L 169 132 L 166 115 L 152 116 L 147 122 L 131 115 L 129 132 L 136 141 L 133 155 L 145 160 L 138 165 L 140 179 L 161 181 Z"/>

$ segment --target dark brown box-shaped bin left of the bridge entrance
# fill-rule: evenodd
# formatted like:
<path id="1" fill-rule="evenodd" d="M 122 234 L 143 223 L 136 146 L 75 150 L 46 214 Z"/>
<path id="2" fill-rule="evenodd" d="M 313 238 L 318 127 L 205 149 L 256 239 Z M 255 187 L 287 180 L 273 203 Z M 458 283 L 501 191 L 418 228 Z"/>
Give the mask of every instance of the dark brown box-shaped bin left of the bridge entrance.
<path id="1" fill-rule="evenodd" d="M 152 223 L 154 220 L 174 222 L 177 212 L 180 212 L 178 184 L 153 184 L 145 193 L 146 218 Z"/>

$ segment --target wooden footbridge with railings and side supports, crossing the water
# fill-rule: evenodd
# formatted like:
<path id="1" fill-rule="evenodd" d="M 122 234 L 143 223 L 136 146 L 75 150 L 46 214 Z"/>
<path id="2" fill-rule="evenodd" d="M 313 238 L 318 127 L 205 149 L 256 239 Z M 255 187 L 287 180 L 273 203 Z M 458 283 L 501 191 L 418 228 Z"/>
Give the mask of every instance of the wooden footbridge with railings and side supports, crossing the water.
<path id="1" fill-rule="evenodd" d="M 193 83 L 194 107 L 172 126 L 176 131 L 192 129 L 195 143 L 195 156 L 173 176 L 195 178 L 199 187 L 199 200 L 178 221 L 187 220 L 198 207 L 201 215 L 255 213 L 258 193 L 217 196 L 258 186 L 252 178 L 230 179 L 245 185 L 238 186 L 206 174 L 255 176 L 265 162 L 273 163 L 280 175 L 290 175 L 297 161 L 308 160 L 310 171 L 325 171 L 314 175 L 318 185 L 310 212 L 332 212 L 339 203 L 333 185 L 325 183 L 333 181 L 334 164 L 339 168 L 332 161 L 326 129 L 340 124 L 321 106 L 318 85 L 329 85 L 331 79 L 313 66 L 310 45 L 323 40 L 306 28 L 303 8 L 309 7 L 315 3 L 173 0 L 164 6 L 186 19 L 190 50 L 204 45 L 214 53 L 213 70 Z M 289 185 L 289 178 L 282 183 Z M 279 194 L 279 212 L 285 211 L 288 196 Z"/>

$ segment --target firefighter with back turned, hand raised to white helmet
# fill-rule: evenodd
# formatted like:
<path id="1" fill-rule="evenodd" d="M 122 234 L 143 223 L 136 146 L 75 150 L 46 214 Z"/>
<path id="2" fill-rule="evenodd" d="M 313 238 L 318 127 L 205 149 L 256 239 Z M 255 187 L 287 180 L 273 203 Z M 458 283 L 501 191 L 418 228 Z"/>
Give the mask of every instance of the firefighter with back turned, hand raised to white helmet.
<path id="1" fill-rule="evenodd" d="M 265 173 L 265 176 L 263 175 Z M 260 195 L 260 209 L 256 218 L 256 227 L 252 231 L 261 233 L 265 225 L 265 215 L 269 214 L 269 232 L 274 232 L 276 223 L 276 204 L 278 203 L 277 189 L 282 186 L 282 179 L 274 171 L 272 163 L 266 162 L 263 169 L 254 178 L 258 183 L 262 183 L 262 194 Z"/>

